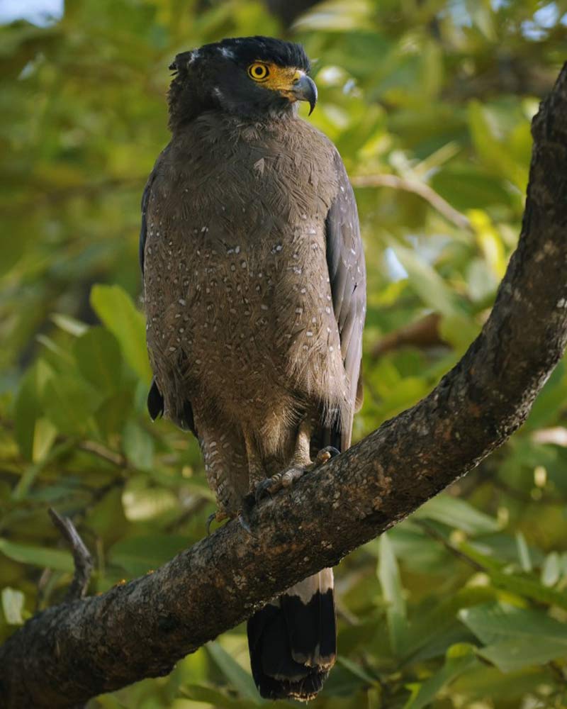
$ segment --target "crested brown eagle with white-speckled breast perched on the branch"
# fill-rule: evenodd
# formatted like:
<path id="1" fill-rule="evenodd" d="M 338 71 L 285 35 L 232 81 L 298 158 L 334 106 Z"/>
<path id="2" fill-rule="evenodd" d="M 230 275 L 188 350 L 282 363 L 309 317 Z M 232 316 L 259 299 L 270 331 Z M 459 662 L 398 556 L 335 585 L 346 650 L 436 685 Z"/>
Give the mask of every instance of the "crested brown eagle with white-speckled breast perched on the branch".
<path id="1" fill-rule="evenodd" d="M 300 45 L 230 38 L 170 69 L 172 139 L 142 197 L 148 408 L 196 435 L 217 516 L 235 517 L 350 445 L 357 205 L 335 146 L 298 117 L 317 99 Z M 313 698 L 335 662 L 332 570 L 253 615 L 248 640 L 262 696 Z"/>

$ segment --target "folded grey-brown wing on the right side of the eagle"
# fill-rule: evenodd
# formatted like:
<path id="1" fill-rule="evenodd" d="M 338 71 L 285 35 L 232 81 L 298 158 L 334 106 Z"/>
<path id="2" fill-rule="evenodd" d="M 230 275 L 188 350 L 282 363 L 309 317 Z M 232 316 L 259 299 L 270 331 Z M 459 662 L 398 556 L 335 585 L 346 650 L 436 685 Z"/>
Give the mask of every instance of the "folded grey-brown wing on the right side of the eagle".
<path id="1" fill-rule="evenodd" d="M 327 214 L 327 266 L 350 406 L 348 411 L 341 413 L 337 423 L 324 432 L 323 437 L 330 441 L 330 445 L 343 451 L 350 445 L 352 419 L 362 403 L 360 377 L 362 330 L 366 314 L 366 269 L 357 201 L 338 153 L 335 165 L 339 189 Z"/>

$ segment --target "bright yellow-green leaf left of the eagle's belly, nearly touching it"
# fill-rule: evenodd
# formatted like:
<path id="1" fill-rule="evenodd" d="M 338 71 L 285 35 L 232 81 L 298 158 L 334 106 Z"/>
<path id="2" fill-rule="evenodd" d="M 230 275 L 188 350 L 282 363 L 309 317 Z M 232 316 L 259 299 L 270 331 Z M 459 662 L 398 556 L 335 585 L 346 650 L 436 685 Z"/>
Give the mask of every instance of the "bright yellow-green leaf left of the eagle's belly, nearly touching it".
<path id="1" fill-rule="evenodd" d="M 91 290 L 91 306 L 120 343 L 130 367 L 149 384 L 152 372 L 147 359 L 145 320 L 132 298 L 120 286 L 98 285 Z"/>

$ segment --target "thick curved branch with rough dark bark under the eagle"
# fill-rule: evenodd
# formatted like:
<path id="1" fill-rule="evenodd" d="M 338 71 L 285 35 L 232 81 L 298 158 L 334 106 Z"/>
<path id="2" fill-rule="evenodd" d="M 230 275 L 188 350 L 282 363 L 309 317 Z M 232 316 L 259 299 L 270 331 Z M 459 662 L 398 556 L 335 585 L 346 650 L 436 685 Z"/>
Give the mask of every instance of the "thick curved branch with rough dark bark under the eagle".
<path id="1" fill-rule="evenodd" d="M 376 537 L 502 444 L 567 339 L 567 65 L 532 125 L 522 234 L 493 312 L 416 406 L 153 574 L 31 619 L 0 648 L 0 696 L 64 707 L 167 674 L 291 584 Z"/>

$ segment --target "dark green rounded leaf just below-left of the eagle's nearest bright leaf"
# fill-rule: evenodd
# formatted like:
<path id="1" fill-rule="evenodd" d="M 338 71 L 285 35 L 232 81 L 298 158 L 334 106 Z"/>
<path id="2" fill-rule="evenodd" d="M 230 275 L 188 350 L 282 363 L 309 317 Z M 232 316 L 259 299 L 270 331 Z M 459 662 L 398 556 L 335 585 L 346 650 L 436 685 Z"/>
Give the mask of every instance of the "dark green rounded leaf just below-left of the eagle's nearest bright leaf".
<path id="1" fill-rule="evenodd" d="M 89 328 L 74 343 L 79 372 L 97 389 L 111 393 L 120 386 L 122 357 L 116 337 L 104 328 Z"/>

